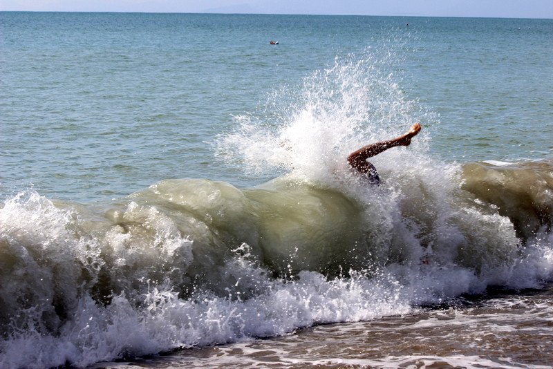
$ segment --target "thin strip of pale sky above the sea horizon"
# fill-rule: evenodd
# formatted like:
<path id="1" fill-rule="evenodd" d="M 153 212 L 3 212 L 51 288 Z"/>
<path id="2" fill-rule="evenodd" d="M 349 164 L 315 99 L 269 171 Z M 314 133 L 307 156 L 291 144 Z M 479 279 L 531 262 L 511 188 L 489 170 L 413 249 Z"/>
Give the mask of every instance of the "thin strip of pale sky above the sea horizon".
<path id="1" fill-rule="evenodd" d="M 553 19 L 553 0 L 0 0 L 2 10 Z"/>

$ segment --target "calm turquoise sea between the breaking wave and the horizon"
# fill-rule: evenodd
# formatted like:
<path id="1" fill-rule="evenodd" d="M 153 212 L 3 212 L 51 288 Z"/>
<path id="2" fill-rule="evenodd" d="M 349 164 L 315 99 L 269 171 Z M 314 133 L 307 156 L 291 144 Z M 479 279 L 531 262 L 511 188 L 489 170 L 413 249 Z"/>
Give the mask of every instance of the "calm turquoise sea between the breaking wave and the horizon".
<path id="1" fill-rule="evenodd" d="M 411 119 L 443 160 L 552 155 L 547 19 L 3 12 L 0 21 L 4 196 L 31 183 L 77 201 L 167 178 L 259 184 L 275 173 L 222 165 L 217 135 L 236 115 L 288 120 L 303 79 L 348 55 L 393 73 L 424 108 Z"/>

